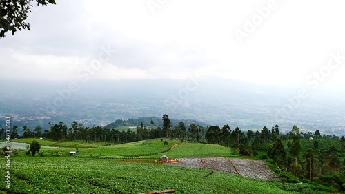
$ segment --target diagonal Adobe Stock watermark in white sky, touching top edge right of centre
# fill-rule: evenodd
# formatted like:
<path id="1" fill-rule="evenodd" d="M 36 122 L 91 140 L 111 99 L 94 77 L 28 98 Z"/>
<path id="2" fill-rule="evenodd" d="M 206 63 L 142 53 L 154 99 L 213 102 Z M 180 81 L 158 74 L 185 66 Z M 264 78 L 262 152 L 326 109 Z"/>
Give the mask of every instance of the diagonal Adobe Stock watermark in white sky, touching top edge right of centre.
<path id="1" fill-rule="evenodd" d="M 255 32 L 257 26 L 260 26 L 264 22 L 264 19 L 268 19 L 271 12 L 277 8 L 278 4 L 275 0 L 269 0 L 267 5 L 262 8 L 255 8 L 256 14 L 251 19 L 244 19 L 243 30 L 239 30 L 238 28 L 234 30 L 239 43 L 243 43 L 245 37 L 248 38 L 251 33 Z"/>

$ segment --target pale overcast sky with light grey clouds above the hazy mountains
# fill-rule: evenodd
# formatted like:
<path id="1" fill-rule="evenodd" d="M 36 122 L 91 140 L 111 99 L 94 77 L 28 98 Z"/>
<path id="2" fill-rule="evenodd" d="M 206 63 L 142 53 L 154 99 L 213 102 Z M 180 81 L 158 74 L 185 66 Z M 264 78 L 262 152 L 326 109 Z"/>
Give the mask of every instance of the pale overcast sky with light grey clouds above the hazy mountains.
<path id="1" fill-rule="evenodd" d="M 344 89 L 344 6 L 342 0 L 57 0 L 32 8 L 31 31 L 0 39 L 0 79 L 201 75 Z"/>

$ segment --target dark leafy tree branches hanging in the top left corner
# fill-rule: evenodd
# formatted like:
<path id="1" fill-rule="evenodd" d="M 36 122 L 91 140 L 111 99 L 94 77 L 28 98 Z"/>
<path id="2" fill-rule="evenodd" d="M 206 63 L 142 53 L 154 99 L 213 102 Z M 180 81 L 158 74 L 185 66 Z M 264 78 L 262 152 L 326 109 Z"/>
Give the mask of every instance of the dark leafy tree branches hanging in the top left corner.
<path id="1" fill-rule="evenodd" d="M 30 30 L 30 24 L 25 22 L 31 12 L 30 1 L 36 1 L 38 6 L 55 4 L 55 0 L 0 0 L 0 39 L 8 31 L 14 35 L 17 30 Z"/>

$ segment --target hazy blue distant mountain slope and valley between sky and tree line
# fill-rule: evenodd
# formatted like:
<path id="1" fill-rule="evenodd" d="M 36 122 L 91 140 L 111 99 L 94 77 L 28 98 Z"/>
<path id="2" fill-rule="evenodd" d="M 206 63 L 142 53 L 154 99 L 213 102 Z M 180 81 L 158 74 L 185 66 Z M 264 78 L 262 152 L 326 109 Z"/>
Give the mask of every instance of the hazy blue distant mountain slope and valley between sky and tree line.
<path id="1" fill-rule="evenodd" d="M 106 126 L 118 119 L 184 119 L 241 130 L 293 125 L 302 131 L 345 135 L 344 91 L 260 86 L 222 79 L 88 81 L 70 90 L 70 82 L 0 81 L 0 128 L 4 117 L 30 129 L 62 121 Z M 3 122 L 1 122 L 3 118 Z M 155 122 L 156 123 L 156 122 Z"/>

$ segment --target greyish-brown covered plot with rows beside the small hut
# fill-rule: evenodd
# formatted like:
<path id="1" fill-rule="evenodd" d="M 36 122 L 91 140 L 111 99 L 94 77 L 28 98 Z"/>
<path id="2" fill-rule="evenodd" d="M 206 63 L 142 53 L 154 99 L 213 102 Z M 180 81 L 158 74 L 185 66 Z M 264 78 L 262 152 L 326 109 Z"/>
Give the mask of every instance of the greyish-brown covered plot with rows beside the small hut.
<path id="1" fill-rule="evenodd" d="M 215 171 L 239 174 L 259 180 L 278 180 L 263 161 L 251 159 L 237 159 L 225 157 L 193 157 L 177 158 L 179 162 L 166 162 L 174 166 L 187 166 L 194 168 L 207 168 Z"/>

